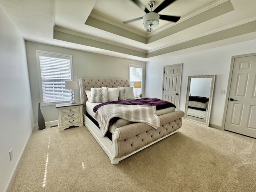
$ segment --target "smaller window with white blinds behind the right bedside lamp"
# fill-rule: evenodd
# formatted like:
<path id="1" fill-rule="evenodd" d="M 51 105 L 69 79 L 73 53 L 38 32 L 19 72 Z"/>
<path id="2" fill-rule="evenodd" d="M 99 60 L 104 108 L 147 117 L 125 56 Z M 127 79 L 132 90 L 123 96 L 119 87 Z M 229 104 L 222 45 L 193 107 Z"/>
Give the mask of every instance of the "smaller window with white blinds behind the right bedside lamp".
<path id="1" fill-rule="evenodd" d="M 134 82 L 141 82 L 142 87 L 142 73 L 143 73 L 143 66 L 142 65 L 129 65 L 129 82 L 130 86 L 134 86 Z M 136 95 L 136 88 L 133 89 L 134 95 Z M 142 88 L 138 88 L 138 95 L 142 94 Z"/>

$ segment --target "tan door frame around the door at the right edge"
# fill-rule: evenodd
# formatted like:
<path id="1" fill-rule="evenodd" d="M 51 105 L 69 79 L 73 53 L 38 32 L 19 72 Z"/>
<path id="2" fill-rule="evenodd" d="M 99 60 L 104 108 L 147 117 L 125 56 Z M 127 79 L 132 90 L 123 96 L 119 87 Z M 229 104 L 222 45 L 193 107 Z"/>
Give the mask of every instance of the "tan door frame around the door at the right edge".
<path id="1" fill-rule="evenodd" d="M 240 57 L 249 57 L 249 56 L 256 56 L 256 53 L 250 53 L 250 54 L 244 54 L 244 55 L 236 55 L 231 57 L 231 64 L 230 64 L 230 70 L 229 70 L 229 76 L 228 76 L 228 86 L 227 86 L 227 94 L 226 94 L 226 102 L 224 106 L 224 113 L 223 113 L 223 118 L 222 118 L 222 126 L 221 129 L 225 129 L 225 124 L 226 124 L 226 115 L 228 111 L 228 98 L 230 94 L 230 87 L 231 87 L 231 80 L 232 80 L 232 75 L 233 75 L 233 68 L 234 68 L 234 62 L 236 58 Z"/>

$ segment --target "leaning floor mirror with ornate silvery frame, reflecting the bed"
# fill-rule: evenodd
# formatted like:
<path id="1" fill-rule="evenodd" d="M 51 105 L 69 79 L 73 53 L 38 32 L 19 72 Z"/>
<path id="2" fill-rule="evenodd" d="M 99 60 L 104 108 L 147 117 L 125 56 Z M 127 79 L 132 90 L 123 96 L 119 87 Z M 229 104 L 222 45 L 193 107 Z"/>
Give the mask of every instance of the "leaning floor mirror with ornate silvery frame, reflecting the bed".
<path id="1" fill-rule="evenodd" d="M 216 75 L 188 76 L 184 119 L 209 126 Z"/>

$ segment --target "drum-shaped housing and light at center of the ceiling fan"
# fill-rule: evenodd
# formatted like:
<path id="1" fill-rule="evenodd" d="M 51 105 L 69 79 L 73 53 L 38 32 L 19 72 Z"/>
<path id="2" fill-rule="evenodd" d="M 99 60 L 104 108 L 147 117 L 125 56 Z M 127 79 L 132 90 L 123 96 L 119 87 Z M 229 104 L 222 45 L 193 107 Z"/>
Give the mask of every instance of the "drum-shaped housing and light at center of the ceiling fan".
<path id="1" fill-rule="evenodd" d="M 155 12 L 149 12 L 143 16 L 143 27 L 151 32 L 159 24 L 159 14 Z"/>

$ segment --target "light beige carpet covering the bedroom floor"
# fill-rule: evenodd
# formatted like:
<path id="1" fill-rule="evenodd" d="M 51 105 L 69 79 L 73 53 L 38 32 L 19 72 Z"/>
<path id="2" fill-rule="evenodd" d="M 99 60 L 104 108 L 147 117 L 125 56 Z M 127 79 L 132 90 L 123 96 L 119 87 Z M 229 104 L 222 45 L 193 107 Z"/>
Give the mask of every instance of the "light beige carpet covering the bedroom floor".
<path id="1" fill-rule="evenodd" d="M 112 165 L 86 127 L 34 130 L 11 192 L 254 192 L 256 139 L 186 120 Z"/>

